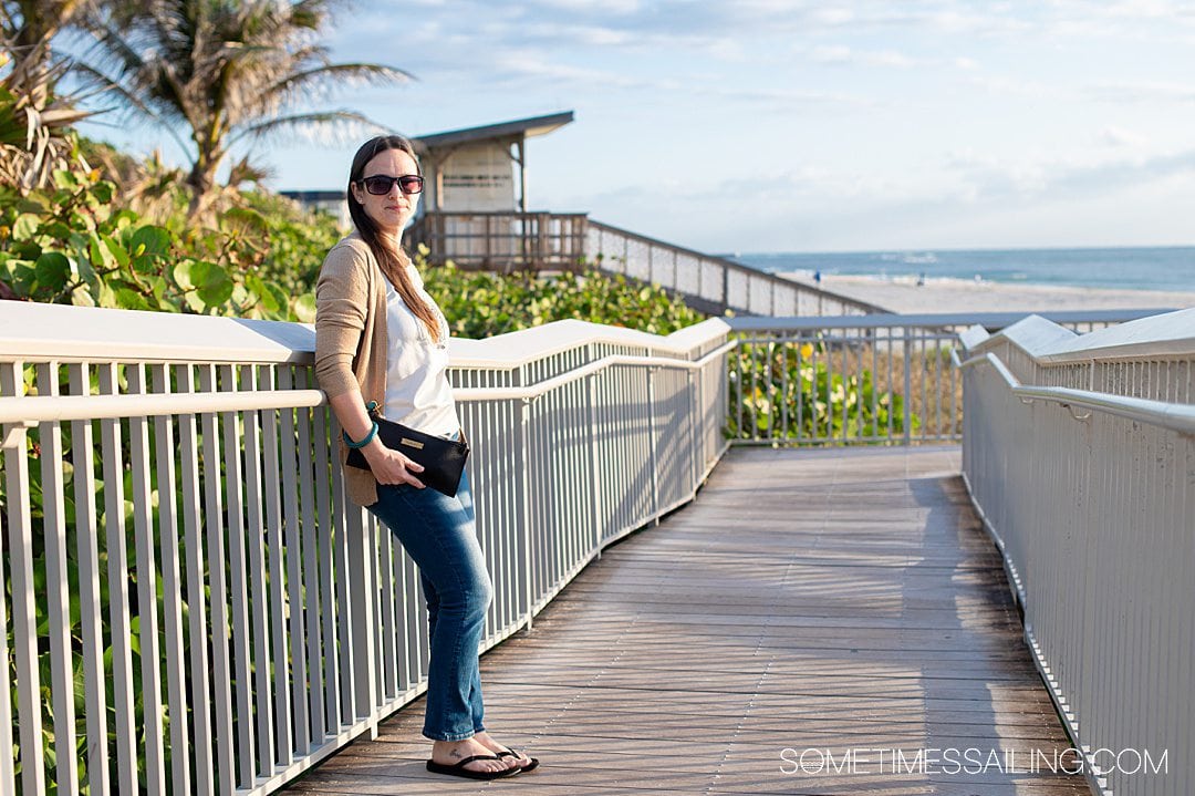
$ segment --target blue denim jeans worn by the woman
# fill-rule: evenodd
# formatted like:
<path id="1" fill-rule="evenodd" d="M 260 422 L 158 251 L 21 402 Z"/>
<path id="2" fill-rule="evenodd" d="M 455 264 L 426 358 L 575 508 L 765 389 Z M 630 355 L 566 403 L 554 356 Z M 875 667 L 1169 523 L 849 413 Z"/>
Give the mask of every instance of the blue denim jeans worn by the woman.
<path id="1" fill-rule="evenodd" d="M 485 729 L 478 647 L 494 587 L 473 527 L 473 494 L 461 476 L 455 497 L 407 484 L 378 485 L 369 510 L 419 567 L 428 600 L 428 702 L 423 734 L 460 741 Z"/>

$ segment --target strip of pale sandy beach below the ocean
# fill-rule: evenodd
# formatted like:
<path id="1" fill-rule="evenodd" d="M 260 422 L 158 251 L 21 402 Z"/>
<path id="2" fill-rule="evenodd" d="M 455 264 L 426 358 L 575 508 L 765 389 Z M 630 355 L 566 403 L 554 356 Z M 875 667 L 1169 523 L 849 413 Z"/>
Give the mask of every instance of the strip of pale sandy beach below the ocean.
<path id="1" fill-rule="evenodd" d="M 815 284 L 804 273 L 783 274 Z M 821 287 L 901 313 L 923 312 L 1043 312 L 1062 310 L 1154 310 L 1195 307 L 1195 293 L 1107 290 L 1054 284 L 1007 284 L 964 280 L 823 275 Z"/>

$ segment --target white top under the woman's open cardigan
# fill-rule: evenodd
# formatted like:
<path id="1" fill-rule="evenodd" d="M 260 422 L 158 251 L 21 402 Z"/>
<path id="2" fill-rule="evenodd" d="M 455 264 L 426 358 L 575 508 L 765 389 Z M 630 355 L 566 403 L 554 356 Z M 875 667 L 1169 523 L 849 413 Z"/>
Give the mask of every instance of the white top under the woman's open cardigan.
<path id="1" fill-rule="evenodd" d="M 386 280 L 386 330 L 390 354 L 386 357 L 386 405 L 382 417 L 411 428 L 451 436 L 460 430 L 456 404 L 448 384 L 448 322 L 423 289 L 423 277 L 407 265 L 415 288 L 440 320 L 441 343 L 431 341 L 423 322 Z"/>

